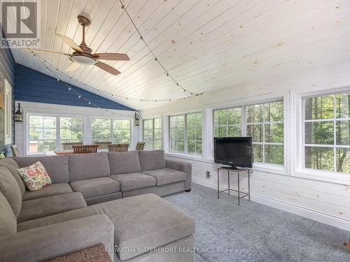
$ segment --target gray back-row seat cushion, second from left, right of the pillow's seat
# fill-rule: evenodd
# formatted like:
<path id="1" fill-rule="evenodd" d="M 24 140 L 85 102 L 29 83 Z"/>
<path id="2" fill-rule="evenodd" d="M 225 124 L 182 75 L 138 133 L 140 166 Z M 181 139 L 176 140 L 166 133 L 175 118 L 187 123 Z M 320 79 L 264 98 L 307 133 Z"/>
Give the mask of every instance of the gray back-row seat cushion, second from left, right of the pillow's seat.
<path id="1" fill-rule="evenodd" d="M 83 194 L 84 198 L 93 196 L 102 196 L 118 192 L 120 190 L 119 182 L 111 177 L 97 177 L 90 180 L 78 180 L 70 183 L 71 189 Z"/>

